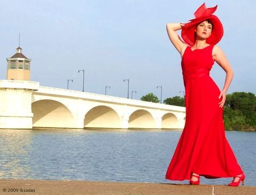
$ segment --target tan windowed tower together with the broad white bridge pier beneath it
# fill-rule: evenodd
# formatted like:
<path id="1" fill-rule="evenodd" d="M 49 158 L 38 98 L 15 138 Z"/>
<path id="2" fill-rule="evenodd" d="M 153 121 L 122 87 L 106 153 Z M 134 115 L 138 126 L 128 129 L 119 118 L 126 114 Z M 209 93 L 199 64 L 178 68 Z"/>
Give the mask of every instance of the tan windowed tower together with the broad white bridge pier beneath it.
<path id="1" fill-rule="evenodd" d="M 32 129 L 32 94 L 38 82 L 30 81 L 30 59 L 20 46 L 7 58 L 7 79 L 0 80 L 0 129 Z"/>

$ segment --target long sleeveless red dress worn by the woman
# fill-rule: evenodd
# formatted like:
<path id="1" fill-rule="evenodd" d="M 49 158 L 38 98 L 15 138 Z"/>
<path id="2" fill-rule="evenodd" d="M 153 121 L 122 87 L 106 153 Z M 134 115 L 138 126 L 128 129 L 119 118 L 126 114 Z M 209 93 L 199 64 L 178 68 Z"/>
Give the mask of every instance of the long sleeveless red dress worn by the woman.
<path id="1" fill-rule="evenodd" d="M 220 90 L 209 76 L 213 46 L 193 51 L 187 46 L 183 54 L 186 121 L 166 179 L 189 180 L 192 172 L 207 178 L 242 173 L 225 136 Z"/>

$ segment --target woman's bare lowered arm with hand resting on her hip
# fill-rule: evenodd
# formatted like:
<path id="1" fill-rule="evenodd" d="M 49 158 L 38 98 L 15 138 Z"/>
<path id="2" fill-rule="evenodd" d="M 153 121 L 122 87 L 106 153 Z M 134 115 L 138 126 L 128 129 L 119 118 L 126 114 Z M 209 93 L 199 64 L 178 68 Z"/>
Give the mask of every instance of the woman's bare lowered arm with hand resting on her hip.
<path id="1" fill-rule="evenodd" d="M 214 45 L 212 53 L 213 53 L 213 59 L 226 72 L 226 79 L 225 79 L 224 87 L 223 87 L 222 91 L 220 92 L 220 95 L 218 96 L 219 99 L 222 98 L 220 103 L 218 103 L 219 107 L 222 108 L 222 107 L 224 107 L 224 104 L 226 101 L 226 92 L 228 91 L 230 83 L 232 82 L 234 73 L 233 73 L 232 67 L 231 67 L 228 59 L 226 58 L 224 52 L 222 52 L 222 50 L 217 45 Z"/>

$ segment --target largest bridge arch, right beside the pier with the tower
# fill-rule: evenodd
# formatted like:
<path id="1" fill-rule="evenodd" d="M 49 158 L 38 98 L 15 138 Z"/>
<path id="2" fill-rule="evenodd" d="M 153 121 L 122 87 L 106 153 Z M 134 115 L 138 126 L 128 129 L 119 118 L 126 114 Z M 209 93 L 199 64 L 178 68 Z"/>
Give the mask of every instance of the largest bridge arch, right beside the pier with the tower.
<path id="1" fill-rule="evenodd" d="M 33 127 L 73 128 L 76 120 L 72 112 L 62 103 L 55 100 L 38 100 L 31 105 Z"/>

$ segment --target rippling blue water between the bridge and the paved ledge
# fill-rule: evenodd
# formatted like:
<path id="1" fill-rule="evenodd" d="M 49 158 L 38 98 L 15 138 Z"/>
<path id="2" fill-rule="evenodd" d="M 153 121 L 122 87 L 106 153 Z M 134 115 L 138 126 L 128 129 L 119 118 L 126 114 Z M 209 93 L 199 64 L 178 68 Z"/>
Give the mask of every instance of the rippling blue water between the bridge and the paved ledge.
<path id="1" fill-rule="evenodd" d="M 170 130 L 0 130 L 0 179 L 188 183 L 164 179 L 180 137 Z M 256 132 L 226 132 L 255 186 Z M 228 184 L 232 179 L 201 179 Z"/>

